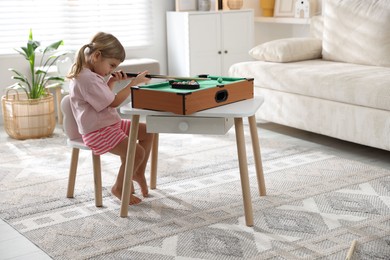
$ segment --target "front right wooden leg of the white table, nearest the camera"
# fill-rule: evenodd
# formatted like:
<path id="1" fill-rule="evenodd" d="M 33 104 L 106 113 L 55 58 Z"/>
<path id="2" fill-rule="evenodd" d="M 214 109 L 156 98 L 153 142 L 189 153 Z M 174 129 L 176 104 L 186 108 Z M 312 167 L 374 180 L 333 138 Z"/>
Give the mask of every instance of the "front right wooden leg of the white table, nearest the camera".
<path id="1" fill-rule="evenodd" d="M 236 129 L 238 164 L 240 167 L 242 197 L 244 200 L 245 223 L 247 226 L 251 227 L 253 226 L 253 210 L 249 186 L 248 162 L 246 158 L 244 126 L 242 118 L 234 118 L 234 127 Z"/>

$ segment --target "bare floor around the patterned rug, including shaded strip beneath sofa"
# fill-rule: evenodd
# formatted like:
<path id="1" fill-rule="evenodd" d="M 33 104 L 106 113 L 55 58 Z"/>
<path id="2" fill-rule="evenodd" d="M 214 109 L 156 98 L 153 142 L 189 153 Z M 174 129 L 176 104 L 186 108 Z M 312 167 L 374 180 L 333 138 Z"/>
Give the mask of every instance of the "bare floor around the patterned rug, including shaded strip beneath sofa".
<path id="1" fill-rule="evenodd" d="M 260 144 L 262 136 L 278 135 L 278 138 L 282 141 L 296 143 L 297 145 L 304 147 L 316 147 L 330 151 L 339 157 L 390 169 L 390 152 L 388 151 L 344 142 L 338 139 L 276 124 L 259 124 L 259 127 Z M 3 127 L 1 127 L 0 140 L 4 140 L 5 138 L 7 138 L 6 133 L 4 133 Z M 51 259 L 42 250 L 1 219 L 0 234 L 0 260 Z"/>

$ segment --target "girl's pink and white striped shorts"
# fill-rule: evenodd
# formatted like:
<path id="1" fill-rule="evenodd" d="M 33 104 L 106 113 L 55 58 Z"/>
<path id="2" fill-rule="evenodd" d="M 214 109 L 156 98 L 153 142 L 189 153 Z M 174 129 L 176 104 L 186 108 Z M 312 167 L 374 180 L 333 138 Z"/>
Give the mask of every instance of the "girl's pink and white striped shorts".
<path id="1" fill-rule="evenodd" d="M 122 119 L 116 124 L 82 135 L 82 138 L 94 154 L 101 155 L 111 151 L 128 137 L 130 125 L 130 120 Z"/>

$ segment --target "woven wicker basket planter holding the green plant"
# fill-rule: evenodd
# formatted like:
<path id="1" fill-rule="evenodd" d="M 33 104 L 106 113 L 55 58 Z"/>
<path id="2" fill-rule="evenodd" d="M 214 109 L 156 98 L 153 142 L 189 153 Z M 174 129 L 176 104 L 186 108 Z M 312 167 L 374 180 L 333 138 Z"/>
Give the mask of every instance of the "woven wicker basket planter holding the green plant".
<path id="1" fill-rule="evenodd" d="M 56 125 L 54 98 L 50 93 L 40 99 L 28 99 L 24 93 L 1 97 L 4 128 L 15 139 L 47 137 L 53 134 Z"/>

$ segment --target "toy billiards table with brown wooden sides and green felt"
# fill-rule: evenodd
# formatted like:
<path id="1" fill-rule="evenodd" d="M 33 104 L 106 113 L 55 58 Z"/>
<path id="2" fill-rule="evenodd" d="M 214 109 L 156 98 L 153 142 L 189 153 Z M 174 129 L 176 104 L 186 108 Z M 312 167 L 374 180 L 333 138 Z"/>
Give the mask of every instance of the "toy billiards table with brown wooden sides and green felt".
<path id="1" fill-rule="evenodd" d="M 183 89 L 184 88 L 184 89 Z M 253 79 L 203 76 L 194 84 L 170 80 L 131 88 L 133 108 L 189 115 L 253 98 Z"/>

